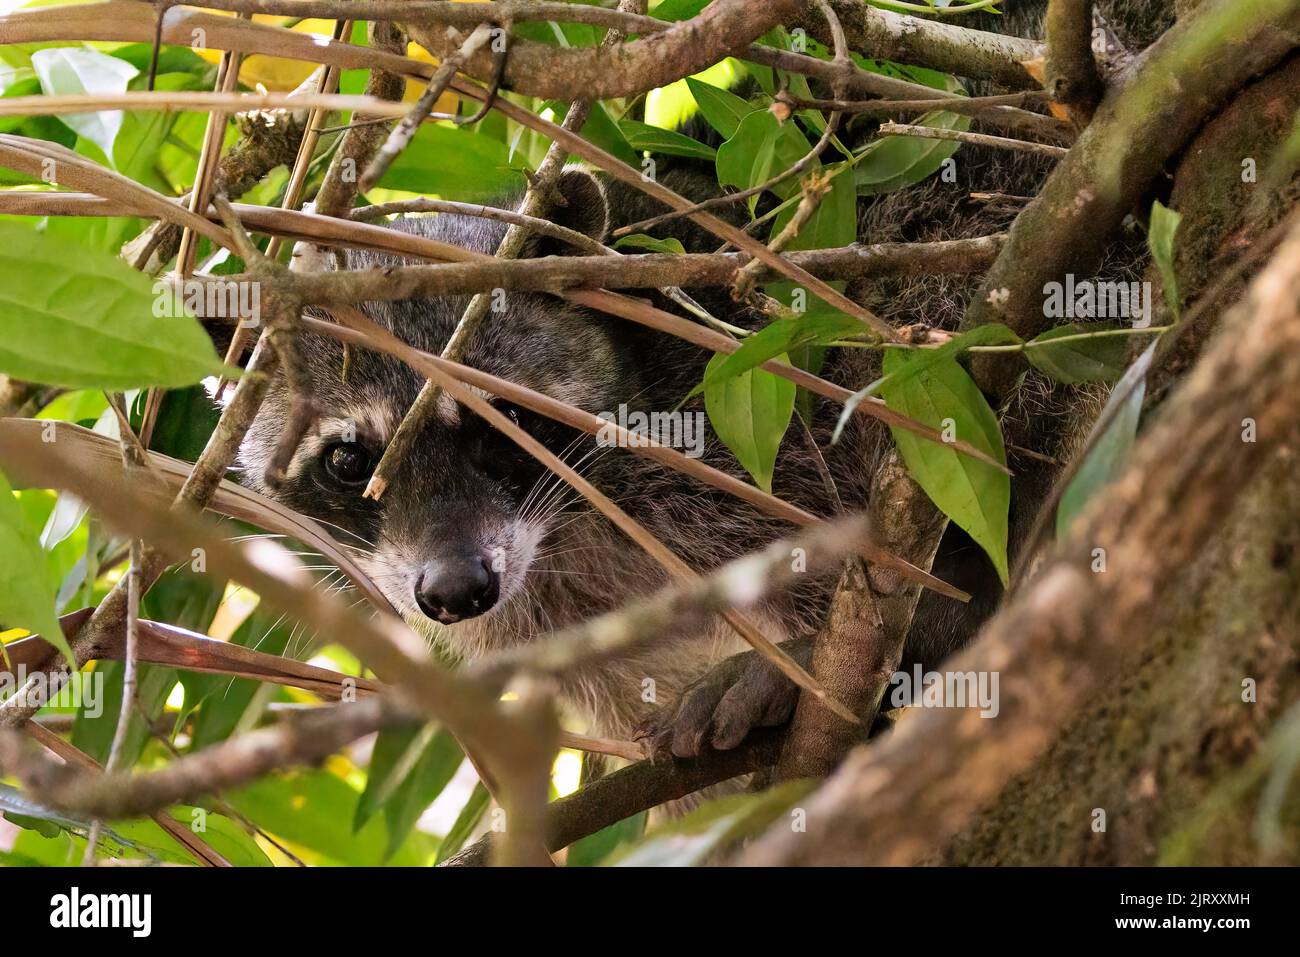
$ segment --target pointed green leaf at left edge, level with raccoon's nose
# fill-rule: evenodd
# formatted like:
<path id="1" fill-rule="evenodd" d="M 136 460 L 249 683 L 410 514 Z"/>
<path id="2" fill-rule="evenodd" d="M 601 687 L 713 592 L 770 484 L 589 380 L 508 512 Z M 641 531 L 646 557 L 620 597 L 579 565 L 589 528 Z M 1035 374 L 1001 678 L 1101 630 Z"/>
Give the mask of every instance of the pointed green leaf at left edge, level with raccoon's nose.
<path id="1" fill-rule="evenodd" d="M 74 661 L 55 615 L 55 583 L 46 573 L 40 538 L 0 473 L 0 631 L 9 628 L 38 632 Z"/>

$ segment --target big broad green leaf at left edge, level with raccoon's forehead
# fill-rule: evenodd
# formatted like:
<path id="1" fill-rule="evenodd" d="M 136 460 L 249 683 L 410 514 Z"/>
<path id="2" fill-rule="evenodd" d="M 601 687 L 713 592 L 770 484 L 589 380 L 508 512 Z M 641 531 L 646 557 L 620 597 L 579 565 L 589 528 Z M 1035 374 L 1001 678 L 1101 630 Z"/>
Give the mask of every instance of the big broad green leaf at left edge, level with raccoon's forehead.
<path id="1" fill-rule="evenodd" d="M 112 391 L 221 374 L 199 322 L 155 315 L 159 298 L 117 256 L 0 222 L 0 372 Z"/>

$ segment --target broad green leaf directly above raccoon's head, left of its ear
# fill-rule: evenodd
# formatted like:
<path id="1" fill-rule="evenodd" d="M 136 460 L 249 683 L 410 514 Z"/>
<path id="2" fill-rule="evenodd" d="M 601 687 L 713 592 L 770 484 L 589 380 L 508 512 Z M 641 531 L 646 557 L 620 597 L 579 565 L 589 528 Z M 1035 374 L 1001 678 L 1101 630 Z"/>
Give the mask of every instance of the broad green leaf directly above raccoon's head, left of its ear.
<path id="1" fill-rule="evenodd" d="M 528 183 L 511 165 L 510 150 L 503 143 L 465 129 L 425 124 L 378 185 L 442 199 L 486 203 L 521 192 Z"/>

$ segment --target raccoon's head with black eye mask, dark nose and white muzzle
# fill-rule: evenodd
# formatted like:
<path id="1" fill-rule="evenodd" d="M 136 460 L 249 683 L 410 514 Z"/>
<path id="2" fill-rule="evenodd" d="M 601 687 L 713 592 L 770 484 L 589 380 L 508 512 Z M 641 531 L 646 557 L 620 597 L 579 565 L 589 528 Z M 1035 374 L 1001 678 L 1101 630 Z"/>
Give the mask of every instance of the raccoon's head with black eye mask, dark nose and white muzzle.
<path id="1" fill-rule="evenodd" d="M 603 233 L 603 207 L 598 218 Z M 394 225 L 489 252 L 504 231 L 498 224 L 452 216 Z M 351 254 L 350 267 L 394 261 Z M 467 304 L 468 298 L 454 296 L 363 308 L 403 341 L 437 354 Z M 550 296 L 498 294 L 464 361 L 589 411 L 616 408 L 638 391 L 640 377 L 637 364 L 610 338 L 615 321 Z M 320 408 L 316 428 L 300 443 L 285 481 L 268 485 L 266 463 L 291 400 L 278 378 L 240 450 L 244 484 L 330 527 L 413 624 L 490 615 L 521 596 L 543 542 L 580 507 L 577 497 L 443 394 L 381 501 L 363 498 L 424 380 L 400 360 L 360 348 L 351 350 L 344 376 L 338 342 L 315 334 L 299 342 Z M 485 398 L 569 464 L 586 469 L 602 458 L 592 437 Z"/>

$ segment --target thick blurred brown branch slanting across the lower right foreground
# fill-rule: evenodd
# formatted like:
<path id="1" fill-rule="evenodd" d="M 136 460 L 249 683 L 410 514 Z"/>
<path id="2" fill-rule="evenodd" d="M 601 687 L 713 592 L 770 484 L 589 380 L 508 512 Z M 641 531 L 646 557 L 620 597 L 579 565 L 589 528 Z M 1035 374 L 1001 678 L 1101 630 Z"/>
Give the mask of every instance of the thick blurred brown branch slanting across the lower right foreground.
<path id="1" fill-rule="evenodd" d="M 1158 411 L 1128 467 L 1057 555 L 948 663 L 1001 675 L 997 720 L 919 709 L 855 752 L 805 805 L 809 830 L 772 828 L 746 865 L 913 863 L 1024 772 L 1105 688 L 1134 635 L 1167 611 L 1186 572 L 1260 469 L 1300 439 L 1300 218 L 1205 358 Z M 1242 420 L 1257 424 L 1242 441 Z M 1238 516 L 1249 521 L 1249 516 Z M 1093 572 L 1096 549 L 1106 571 Z"/>

